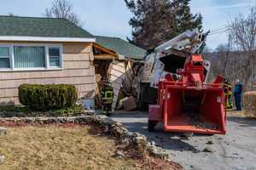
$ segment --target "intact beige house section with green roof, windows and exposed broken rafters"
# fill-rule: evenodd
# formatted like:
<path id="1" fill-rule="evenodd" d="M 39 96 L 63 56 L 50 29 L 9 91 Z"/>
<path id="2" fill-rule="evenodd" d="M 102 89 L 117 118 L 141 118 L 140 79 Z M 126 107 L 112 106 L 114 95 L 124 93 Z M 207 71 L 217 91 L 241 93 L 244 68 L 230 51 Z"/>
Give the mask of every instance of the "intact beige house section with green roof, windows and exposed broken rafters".
<path id="1" fill-rule="evenodd" d="M 0 105 L 19 104 L 22 83 L 73 84 L 93 99 L 96 64 L 122 54 L 105 45 L 66 19 L 0 16 Z"/>

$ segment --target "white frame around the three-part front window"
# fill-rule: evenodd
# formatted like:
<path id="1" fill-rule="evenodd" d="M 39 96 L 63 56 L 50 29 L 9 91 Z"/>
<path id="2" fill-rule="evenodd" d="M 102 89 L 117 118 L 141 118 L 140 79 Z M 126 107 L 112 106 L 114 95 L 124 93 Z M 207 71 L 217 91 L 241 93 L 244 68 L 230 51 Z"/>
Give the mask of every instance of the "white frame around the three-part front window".
<path id="1" fill-rule="evenodd" d="M 15 53 L 14 47 L 44 47 L 45 50 L 45 67 L 34 67 L 34 68 L 15 68 Z M 0 47 L 9 47 L 9 60 L 10 68 L 0 68 L 0 71 L 47 71 L 47 70 L 63 70 L 63 51 L 62 44 L 41 44 L 41 43 L 0 43 Z M 60 48 L 60 66 L 49 66 L 49 48 Z"/>

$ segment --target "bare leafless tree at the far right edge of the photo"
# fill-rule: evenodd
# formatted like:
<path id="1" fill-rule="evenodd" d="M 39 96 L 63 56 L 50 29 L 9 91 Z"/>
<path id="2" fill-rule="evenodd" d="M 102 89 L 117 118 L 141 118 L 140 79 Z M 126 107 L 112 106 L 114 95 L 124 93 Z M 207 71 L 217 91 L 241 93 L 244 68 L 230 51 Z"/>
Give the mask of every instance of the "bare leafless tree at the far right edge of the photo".
<path id="1" fill-rule="evenodd" d="M 244 54 L 245 62 L 245 83 L 251 82 L 253 86 L 253 76 L 255 71 L 255 48 L 256 48 L 256 6 L 249 8 L 249 14 L 240 14 L 229 24 L 230 33 L 238 50 Z"/>

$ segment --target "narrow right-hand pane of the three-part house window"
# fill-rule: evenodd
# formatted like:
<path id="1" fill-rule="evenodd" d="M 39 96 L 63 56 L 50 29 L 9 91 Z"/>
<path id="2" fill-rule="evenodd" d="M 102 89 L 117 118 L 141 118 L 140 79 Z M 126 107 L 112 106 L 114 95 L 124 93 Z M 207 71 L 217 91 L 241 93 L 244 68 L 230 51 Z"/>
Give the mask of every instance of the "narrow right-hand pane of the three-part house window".
<path id="1" fill-rule="evenodd" d="M 49 66 L 61 66 L 60 48 L 49 48 Z"/>

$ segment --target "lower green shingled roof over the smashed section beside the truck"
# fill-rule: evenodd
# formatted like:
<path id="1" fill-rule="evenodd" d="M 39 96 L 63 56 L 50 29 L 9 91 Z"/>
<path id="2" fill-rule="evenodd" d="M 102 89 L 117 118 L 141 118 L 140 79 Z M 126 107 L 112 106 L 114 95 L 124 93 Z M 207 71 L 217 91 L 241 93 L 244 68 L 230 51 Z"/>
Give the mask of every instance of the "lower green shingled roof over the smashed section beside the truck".
<path id="1" fill-rule="evenodd" d="M 115 51 L 117 54 L 122 54 L 126 58 L 143 59 L 146 54 L 143 48 L 138 48 L 119 37 L 96 36 L 96 43 Z"/>

